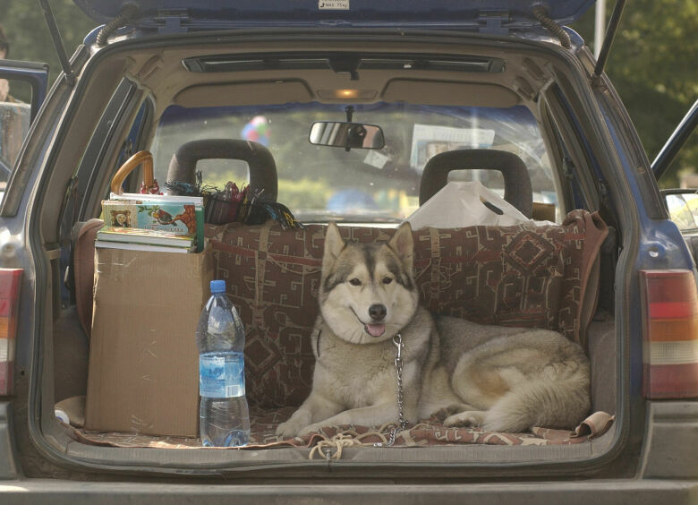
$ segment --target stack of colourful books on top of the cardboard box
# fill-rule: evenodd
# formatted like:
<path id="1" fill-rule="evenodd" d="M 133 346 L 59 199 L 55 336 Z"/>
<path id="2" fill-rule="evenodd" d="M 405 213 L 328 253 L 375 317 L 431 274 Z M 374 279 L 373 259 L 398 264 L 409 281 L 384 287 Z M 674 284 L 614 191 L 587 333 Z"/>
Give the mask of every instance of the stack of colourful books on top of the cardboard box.
<path id="1" fill-rule="evenodd" d="M 203 251 L 203 199 L 112 193 L 102 201 L 96 247 L 153 252 Z"/>

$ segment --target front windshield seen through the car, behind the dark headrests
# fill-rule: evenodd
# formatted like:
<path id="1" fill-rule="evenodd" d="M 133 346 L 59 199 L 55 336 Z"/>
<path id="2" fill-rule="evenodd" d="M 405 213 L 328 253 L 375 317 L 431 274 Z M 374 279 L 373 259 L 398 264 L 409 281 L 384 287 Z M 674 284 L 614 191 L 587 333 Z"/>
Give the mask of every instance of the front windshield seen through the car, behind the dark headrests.
<path id="1" fill-rule="evenodd" d="M 168 107 L 153 142 L 156 178 L 166 180 L 174 151 L 187 141 L 245 139 L 265 145 L 277 165 L 278 201 L 303 222 L 396 222 L 419 206 L 426 161 L 447 150 L 497 149 L 522 158 L 534 201 L 557 204 L 555 183 L 541 132 L 526 107 L 433 107 L 404 103 L 353 105 L 353 121 L 379 125 L 380 150 L 312 145 L 315 121 L 345 121 L 343 105 L 287 104 L 260 107 Z M 201 160 L 204 184 L 223 188 L 249 181 L 247 164 Z M 464 170 L 451 180 L 477 180 L 503 193 L 502 176 Z"/>

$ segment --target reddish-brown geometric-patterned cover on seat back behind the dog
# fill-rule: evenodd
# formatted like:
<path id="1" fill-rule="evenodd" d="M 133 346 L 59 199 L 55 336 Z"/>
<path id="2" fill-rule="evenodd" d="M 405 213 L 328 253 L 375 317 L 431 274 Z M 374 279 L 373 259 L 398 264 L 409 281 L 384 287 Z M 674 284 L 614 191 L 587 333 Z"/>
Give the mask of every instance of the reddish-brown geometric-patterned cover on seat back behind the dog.
<path id="1" fill-rule="evenodd" d="M 394 230 L 340 227 L 345 239 L 387 241 Z M 311 330 L 325 227 L 208 227 L 217 278 L 246 329 L 252 405 L 300 405 L 311 390 Z M 596 214 L 575 210 L 559 226 L 422 228 L 414 274 L 432 312 L 471 321 L 559 330 L 585 346 L 596 304 L 598 254 L 607 235 Z"/>

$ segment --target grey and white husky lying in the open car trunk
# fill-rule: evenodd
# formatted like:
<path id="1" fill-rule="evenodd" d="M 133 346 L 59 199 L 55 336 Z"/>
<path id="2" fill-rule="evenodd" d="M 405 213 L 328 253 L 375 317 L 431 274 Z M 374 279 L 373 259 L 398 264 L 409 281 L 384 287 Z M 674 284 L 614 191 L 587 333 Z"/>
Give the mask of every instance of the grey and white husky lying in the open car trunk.
<path id="1" fill-rule="evenodd" d="M 589 361 L 574 342 L 550 330 L 432 316 L 420 306 L 409 223 L 387 244 L 346 244 L 330 223 L 322 261 L 311 394 L 278 435 L 396 422 L 398 333 L 410 423 L 437 414 L 447 426 L 522 432 L 573 428 L 589 411 Z"/>

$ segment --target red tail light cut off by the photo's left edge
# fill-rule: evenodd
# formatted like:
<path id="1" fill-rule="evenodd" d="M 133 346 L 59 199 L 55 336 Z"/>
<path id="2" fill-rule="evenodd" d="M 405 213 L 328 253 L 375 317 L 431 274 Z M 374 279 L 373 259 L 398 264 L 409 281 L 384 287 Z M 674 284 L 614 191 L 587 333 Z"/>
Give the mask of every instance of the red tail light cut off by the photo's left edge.
<path id="1" fill-rule="evenodd" d="M 0 269 L 0 396 L 13 392 L 14 334 L 21 269 Z"/>

